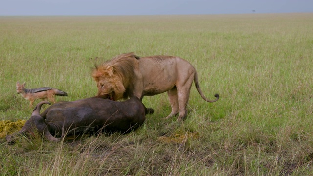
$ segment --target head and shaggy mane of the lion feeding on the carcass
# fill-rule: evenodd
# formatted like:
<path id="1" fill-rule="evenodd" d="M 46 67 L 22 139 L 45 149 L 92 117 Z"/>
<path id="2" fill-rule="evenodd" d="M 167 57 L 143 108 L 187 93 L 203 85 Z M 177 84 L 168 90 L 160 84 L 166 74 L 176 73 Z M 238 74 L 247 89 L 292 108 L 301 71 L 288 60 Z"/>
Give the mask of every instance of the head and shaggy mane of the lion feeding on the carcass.
<path id="1" fill-rule="evenodd" d="M 112 100 L 126 99 L 133 90 L 134 69 L 139 57 L 125 53 L 96 66 L 92 77 L 97 82 L 98 95 L 109 95 Z"/>

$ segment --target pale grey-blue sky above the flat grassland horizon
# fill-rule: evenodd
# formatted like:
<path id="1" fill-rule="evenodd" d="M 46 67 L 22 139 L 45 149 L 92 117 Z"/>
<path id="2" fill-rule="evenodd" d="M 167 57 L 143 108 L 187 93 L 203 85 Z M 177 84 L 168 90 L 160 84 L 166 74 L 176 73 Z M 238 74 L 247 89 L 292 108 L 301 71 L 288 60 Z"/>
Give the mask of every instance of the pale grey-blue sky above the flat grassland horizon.
<path id="1" fill-rule="evenodd" d="M 0 16 L 313 12 L 313 0 L 0 0 Z"/>

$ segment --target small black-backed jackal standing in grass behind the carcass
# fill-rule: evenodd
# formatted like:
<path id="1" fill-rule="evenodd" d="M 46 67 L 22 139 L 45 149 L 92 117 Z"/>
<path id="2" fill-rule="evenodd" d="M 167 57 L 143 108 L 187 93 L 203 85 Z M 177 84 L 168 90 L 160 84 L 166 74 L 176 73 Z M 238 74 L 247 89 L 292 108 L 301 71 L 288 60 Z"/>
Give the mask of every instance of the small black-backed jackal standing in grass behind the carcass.
<path id="1" fill-rule="evenodd" d="M 49 87 L 43 87 L 43 88 L 25 88 L 26 82 L 23 84 L 20 84 L 20 82 L 16 82 L 16 92 L 18 94 L 21 94 L 25 99 L 30 101 L 29 107 L 33 106 L 33 103 L 37 99 L 43 99 L 43 100 L 49 100 L 52 103 L 55 103 L 54 95 L 58 96 L 67 96 L 67 93 L 56 89 L 56 88 L 49 88 Z"/>

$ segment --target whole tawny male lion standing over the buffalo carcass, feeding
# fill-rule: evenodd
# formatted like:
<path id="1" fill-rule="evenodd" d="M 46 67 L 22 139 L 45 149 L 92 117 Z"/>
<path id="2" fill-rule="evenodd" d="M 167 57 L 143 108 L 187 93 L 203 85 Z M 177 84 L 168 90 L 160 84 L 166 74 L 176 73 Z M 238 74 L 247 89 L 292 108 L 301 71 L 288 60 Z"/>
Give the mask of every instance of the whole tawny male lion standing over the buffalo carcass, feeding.
<path id="1" fill-rule="evenodd" d="M 138 57 L 133 52 L 116 56 L 96 66 L 92 77 L 97 82 L 98 95 L 109 95 L 112 100 L 126 99 L 132 96 L 142 100 L 143 96 L 168 93 L 172 112 L 170 118 L 179 113 L 178 121 L 187 115 L 187 103 L 192 82 L 201 97 L 202 93 L 196 69 L 186 60 L 175 56 Z"/>

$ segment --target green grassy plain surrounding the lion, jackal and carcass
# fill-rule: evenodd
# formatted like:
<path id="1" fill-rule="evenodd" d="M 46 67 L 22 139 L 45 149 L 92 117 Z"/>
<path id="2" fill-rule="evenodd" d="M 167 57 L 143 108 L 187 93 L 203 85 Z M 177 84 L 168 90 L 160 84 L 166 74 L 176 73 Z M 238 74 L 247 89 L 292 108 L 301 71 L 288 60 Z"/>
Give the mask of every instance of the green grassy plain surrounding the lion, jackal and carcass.
<path id="1" fill-rule="evenodd" d="M 26 120 L 26 88 L 94 96 L 93 65 L 125 53 L 175 55 L 198 71 L 183 123 L 167 94 L 127 135 L 8 145 L 0 175 L 313 175 L 313 14 L 0 17 L 0 120 Z M 36 102 L 39 102 L 36 101 Z M 47 108 L 48 106 L 45 106 Z"/>

